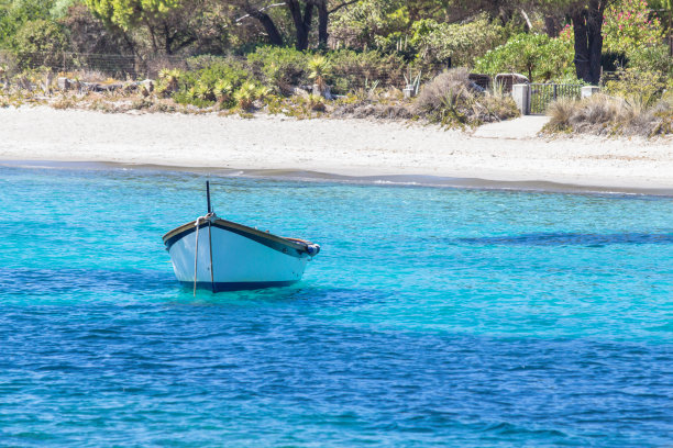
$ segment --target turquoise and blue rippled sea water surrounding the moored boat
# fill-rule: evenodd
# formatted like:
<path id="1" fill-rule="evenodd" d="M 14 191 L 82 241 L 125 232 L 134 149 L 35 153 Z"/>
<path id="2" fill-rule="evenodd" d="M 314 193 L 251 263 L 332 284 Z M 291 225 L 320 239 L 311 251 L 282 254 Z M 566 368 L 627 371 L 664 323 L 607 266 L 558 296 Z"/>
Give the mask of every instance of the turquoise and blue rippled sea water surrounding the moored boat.
<path id="1" fill-rule="evenodd" d="M 0 167 L 0 445 L 673 444 L 673 200 L 211 177 L 322 246 L 196 298 L 203 176 Z"/>

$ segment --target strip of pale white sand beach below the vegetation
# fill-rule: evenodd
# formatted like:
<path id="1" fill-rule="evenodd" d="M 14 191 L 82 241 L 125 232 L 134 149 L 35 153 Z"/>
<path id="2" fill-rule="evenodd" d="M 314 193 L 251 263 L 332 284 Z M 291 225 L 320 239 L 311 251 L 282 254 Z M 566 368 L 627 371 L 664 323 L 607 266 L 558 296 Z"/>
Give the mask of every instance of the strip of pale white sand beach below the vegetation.
<path id="1" fill-rule="evenodd" d="M 431 175 L 615 188 L 673 188 L 673 139 L 536 137 L 544 119 L 474 135 L 363 120 L 0 110 L 0 159 Z"/>

